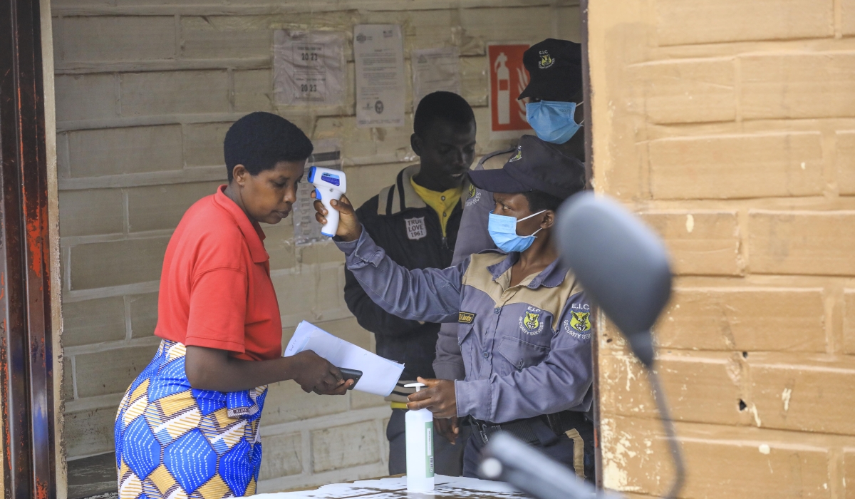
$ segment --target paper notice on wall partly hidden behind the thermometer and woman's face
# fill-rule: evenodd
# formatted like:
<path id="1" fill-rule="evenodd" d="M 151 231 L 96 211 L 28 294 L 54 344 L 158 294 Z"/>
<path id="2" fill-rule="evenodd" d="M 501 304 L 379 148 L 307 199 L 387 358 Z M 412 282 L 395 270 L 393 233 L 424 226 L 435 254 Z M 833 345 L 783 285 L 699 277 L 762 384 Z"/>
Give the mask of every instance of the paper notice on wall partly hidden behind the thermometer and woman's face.
<path id="1" fill-rule="evenodd" d="M 338 140 L 314 140 L 312 146 L 315 149 L 306 162 L 303 181 L 297 187 L 297 202 L 294 203 L 292 217 L 294 219 L 294 244 L 304 246 L 318 241 L 328 241 L 326 235 L 321 234 L 321 224 L 315 220 L 315 199 L 311 193 L 315 187 L 306 181 L 309 178 L 309 169 L 312 166 L 323 168 L 341 169 L 341 146 Z"/>

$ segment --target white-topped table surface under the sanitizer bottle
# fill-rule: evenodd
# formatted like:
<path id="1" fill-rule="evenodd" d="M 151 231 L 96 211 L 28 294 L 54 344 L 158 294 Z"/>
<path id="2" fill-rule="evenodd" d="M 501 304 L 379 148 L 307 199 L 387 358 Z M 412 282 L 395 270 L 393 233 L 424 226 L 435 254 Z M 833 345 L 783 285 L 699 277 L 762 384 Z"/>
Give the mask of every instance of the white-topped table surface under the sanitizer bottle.
<path id="1" fill-rule="evenodd" d="M 313 490 L 259 494 L 255 499 L 401 499 L 403 497 L 424 499 L 474 498 L 522 499 L 525 494 L 514 490 L 509 484 L 478 478 L 434 477 L 433 493 L 413 494 L 407 492 L 407 478 L 378 478 L 360 480 L 349 484 L 328 484 Z"/>

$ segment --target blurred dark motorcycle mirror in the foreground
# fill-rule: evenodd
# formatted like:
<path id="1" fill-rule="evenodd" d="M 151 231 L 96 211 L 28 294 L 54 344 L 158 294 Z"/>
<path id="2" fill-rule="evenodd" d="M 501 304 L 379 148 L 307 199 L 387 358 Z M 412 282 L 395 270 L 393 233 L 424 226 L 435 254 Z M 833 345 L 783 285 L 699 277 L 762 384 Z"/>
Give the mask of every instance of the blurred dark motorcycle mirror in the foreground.
<path id="1" fill-rule="evenodd" d="M 582 288 L 653 364 L 650 330 L 671 294 L 668 252 L 651 229 L 615 201 L 578 193 L 561 206 L 557 244 Z"/>

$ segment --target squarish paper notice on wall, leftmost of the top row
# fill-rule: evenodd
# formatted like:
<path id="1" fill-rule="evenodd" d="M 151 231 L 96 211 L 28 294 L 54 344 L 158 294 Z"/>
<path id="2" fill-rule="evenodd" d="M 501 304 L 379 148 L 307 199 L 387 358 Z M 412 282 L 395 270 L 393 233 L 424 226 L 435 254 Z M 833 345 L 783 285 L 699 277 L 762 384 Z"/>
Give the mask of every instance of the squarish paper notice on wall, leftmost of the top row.
<path id="1" fill-rule="evenodd" d="M 276 104 L 345 104 L 345 34 L 276 30 L 273 38 Z"/>

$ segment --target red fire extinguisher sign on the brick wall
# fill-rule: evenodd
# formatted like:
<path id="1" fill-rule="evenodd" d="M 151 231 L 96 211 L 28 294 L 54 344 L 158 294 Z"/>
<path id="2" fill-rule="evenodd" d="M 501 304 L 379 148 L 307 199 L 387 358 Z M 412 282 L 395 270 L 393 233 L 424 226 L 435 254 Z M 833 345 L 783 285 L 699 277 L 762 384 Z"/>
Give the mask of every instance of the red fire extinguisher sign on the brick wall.
<path id="1" fill-rule="evenodd" d="M 490 138 L 516 139 L 530 131 L 526 104 L 516 98 L 528 85 L 528 71 L 522 65 L 522 53 L 528 44 L 489 44 L 490 64 Z"/>

